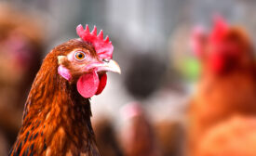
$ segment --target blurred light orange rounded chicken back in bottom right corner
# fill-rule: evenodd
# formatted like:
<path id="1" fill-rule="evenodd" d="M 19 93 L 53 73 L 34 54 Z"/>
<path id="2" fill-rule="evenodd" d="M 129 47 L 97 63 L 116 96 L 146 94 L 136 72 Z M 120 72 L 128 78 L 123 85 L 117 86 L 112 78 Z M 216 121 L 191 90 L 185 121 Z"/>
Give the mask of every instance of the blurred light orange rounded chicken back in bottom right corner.
<path id="1" fill-rule="evenodd" d="M 254 156 L 255 144 L 256 118 L 234 116 L 210 128 L 196 156 Z"/>

